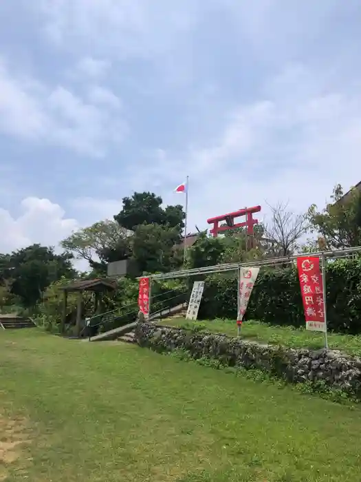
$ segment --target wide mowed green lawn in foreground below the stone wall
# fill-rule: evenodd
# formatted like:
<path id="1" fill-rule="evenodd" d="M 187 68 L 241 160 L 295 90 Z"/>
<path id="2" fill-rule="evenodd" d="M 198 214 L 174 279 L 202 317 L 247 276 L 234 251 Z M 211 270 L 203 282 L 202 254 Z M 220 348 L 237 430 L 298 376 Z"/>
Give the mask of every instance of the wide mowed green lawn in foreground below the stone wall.
<path id="1" fill-rule="evenodd" d="M 36 329 L 0 332 L 0 381 L 7 482 L 360 481 L 358 406 Z"/>

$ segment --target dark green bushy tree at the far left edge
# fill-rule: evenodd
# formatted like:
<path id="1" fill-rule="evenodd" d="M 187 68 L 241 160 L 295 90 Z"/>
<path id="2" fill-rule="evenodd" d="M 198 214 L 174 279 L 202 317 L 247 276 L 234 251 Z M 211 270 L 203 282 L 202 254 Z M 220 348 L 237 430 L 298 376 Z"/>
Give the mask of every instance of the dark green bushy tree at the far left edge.
<path id="1" fill-rule="evenodd" d="M 27 248 L 0 256 L 0 281 L 23 306 L 32 306 L 41 299 L 50 283 L 61 277 L 76 275 L 72 255 L 56 254 L 54 249 L 32 244 Z"/>

